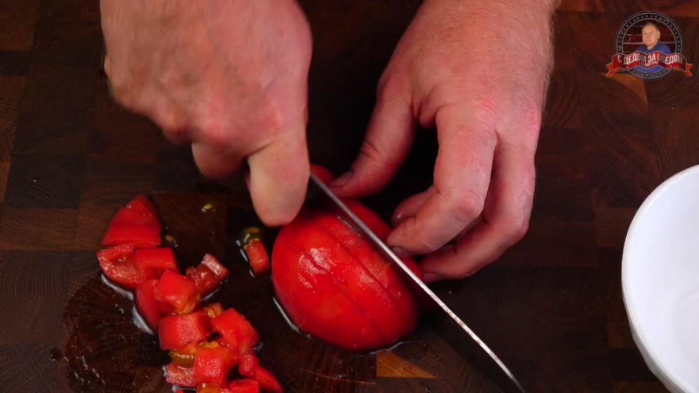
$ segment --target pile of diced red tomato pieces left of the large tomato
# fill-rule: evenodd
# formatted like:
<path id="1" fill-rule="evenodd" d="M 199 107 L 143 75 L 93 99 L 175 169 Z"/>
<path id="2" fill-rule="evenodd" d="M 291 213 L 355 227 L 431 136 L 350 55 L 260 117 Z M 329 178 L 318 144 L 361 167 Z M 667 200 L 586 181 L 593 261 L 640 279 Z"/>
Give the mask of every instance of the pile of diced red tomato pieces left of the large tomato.
<path id="1" fill-rule="evenodd" d="M 229 270 L 206 254 L 198 266 L 180 273 L 173 250 L 161 246 L 160 230 L 152 202 L 138 195 L 112 218 L 102 239 L 107 247 L 96 256 L 109 280 L 134 291 L 136 311 L 157 334 L 160 348 L 169 351 L 167 382 L 197 393 L 259 393 L 265 386 L 281 392 L 274 376 L 260 371 L 252 324 L 221 303 L 200 308 L 203 294 L 221 285 Z M 220 337 L 210 338 L 214 332 Z M 243 378 L 229 380 L 233 369 Z"/>

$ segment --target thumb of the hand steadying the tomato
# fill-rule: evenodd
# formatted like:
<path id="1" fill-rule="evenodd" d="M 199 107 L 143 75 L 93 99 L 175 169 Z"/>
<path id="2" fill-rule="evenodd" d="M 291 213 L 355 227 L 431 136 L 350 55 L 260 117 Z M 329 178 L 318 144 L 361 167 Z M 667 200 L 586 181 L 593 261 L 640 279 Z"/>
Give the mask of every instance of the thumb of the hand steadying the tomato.
<path id="1" fill-rule="evenodd" d="M 392 85 L 380 90 L 359 157 L 331 183 L 340 197 L 362 197 L 380 191 L 396 174 L 413 140 L 410 95 Z"/>

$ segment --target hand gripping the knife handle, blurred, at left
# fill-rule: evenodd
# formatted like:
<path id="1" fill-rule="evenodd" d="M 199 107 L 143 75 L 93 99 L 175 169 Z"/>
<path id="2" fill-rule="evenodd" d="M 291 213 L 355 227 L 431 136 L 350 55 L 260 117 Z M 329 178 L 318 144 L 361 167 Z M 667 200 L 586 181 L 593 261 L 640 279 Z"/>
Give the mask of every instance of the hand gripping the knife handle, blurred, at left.
<path id="1" fill-rule="evenodd" d="M 191 142 L 196 164 L 224 178 L 247 159 L 268 225 L 300 210 L 311 34 L 293 0 L 101 0 L 113 95 Z"/>

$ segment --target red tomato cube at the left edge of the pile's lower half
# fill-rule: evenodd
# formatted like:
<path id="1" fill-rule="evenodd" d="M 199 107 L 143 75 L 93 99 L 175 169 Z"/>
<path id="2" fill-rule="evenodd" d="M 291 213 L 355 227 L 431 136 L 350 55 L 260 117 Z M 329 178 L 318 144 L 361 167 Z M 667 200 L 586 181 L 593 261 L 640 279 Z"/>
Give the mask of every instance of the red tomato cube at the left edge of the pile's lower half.
<path id="1" fill-rule="evenodd" d="M 210 332 L 209 319 L 201 310 L 185 315 L 167 315 L 161 317 L 159 322 L 160 348 L 185 348 L 191 343 L 205 340 Z"/>

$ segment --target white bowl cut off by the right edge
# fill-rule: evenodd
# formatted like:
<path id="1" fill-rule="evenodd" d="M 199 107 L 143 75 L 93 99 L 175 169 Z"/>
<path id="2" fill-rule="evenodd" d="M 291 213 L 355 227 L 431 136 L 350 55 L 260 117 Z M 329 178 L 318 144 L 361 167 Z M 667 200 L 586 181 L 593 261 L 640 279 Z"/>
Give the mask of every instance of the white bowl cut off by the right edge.
<path id="1" fill-rule="evenodd" d="M 621 266 L 631 332 L 649 369 L 670 392 L 699 392 L 699 166 L 643 202 Z"/>

